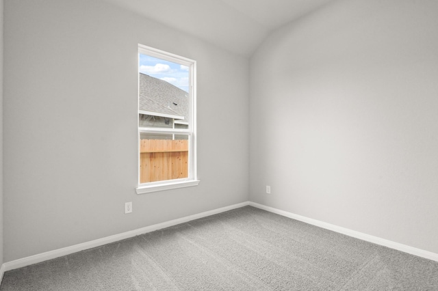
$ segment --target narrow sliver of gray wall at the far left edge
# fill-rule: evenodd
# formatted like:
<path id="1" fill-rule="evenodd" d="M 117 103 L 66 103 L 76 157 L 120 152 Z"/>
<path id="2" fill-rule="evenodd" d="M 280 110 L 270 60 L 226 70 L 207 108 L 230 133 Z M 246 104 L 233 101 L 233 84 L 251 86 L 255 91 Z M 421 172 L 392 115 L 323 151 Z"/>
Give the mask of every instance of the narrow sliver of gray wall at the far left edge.
<path id="1" fill-rule="evenodd" d="M 3 264 L 3 0 L 0 0 L 0 265 Z"/>

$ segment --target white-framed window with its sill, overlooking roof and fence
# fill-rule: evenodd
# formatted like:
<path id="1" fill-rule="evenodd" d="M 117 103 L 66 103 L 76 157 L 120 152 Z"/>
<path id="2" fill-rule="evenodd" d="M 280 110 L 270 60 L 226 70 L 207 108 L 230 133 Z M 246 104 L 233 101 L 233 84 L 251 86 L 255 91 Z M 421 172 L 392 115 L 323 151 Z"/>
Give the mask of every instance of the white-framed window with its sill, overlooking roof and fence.
<path id="1" fill-rule="evenodd" d="M 196 61 L 138 45 L 138 187 L 196 186 Z"/>

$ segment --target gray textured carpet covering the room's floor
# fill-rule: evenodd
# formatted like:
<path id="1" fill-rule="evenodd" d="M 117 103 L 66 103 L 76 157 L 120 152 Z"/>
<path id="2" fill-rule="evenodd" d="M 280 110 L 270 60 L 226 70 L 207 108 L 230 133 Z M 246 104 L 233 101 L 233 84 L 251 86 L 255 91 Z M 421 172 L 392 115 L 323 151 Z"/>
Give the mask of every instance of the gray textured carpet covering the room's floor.
<path id="1" fill-rule="evenodd" d="M 438 262 L 246 206 L 8 271 L 0 290 L 438 290 Z"/>

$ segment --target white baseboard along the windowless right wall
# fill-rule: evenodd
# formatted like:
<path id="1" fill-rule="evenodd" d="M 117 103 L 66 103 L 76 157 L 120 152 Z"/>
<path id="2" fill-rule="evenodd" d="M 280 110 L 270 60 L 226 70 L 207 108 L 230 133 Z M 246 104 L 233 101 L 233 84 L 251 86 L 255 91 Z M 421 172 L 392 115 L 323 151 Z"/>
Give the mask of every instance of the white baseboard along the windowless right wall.
<path id="1" fill-rule="evenodd" d="M 316 219 L 311 219 L 308 217 L 302 217 L 301 215 L 294 214 L 291 212 L 279 210 L 269 206 L 264 206 L 255 202 L 249 202 L 250 206 L 260 208 L 275 214 L 282 215 L 283 217 L 289 217 L 291 219 L 296 219 L 311 225 L 325 228 L 326 230 L 332 230 L 333 232 L 339 232 L 339 234 L 345 234 L 347 236 L 352 236 L 353 238 L 359 238 L 361 240 L 368 241 L 370 243 L 375 243 L 376 245 L 383 245 L 384 247 L 389 247 L 391 249 L 396 249 L 398 251 L 403 251 L 404 253 L 410 253 L 411 255 L 417 255 L 418 257 L 426 258 L 428 260 L 433 260 L 438 262 L 438 253 L 432 253 L 430 251 L 424 251 L 423 249 L 417 249 L 415 247 L 409 247 L 408 245 L 402 245 L 400 243 L 395 243 L 391 240 L 385 240 L 383 238 L 378 238 L 376 236 L 370 236 L 369 234 L 363 234 L 361 232 L 356 232 L 355 230 L 349 230 L 345 227 L 340 227 L 330 223 L 325 223 L 323 221 L 318 221 Z"/>

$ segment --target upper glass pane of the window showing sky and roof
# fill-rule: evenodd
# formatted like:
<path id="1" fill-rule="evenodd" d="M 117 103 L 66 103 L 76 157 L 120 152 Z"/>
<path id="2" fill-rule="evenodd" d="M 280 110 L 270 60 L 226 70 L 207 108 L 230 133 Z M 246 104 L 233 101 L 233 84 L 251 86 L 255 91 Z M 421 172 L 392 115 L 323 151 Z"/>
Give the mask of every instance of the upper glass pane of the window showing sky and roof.
<path id="1" fill-rule="evenodd" d="M 188 122 L 189 68 L 181 64 L 139 55 L 139 126 L 173 128 Z"/>

